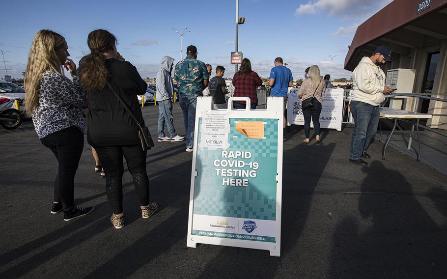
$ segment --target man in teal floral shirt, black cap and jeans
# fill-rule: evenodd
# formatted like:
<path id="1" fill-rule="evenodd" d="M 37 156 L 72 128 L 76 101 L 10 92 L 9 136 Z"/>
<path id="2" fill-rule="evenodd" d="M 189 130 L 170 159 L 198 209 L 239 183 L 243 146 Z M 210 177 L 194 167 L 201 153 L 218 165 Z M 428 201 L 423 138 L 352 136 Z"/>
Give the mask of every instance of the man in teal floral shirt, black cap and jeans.
<path id="1" fill-rule="evenodd" d="M 175 65 L 174 80 L 178 82 L 180 107 L 186 131 L 186 151 L 192 152 L 194 146 L 194 126 L 196 125 L 197 96 L 208 86 L 208 69 L 197 60 L 197 48 L 189 46 L 186 58 Z"/>

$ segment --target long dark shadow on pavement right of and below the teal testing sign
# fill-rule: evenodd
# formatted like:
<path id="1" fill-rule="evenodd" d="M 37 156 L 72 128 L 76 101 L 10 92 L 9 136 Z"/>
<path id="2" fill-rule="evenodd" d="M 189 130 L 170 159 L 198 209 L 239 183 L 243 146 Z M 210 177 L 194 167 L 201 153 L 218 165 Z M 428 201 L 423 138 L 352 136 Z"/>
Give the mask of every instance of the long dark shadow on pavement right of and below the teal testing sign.
<path id="1" fill-rule="evenodd" d="M 290 149 L 287 147 L 295 142 L 289 140 L 286 143 L 282 171 L 281 257 L 272 257 L 268 251 L 223 247 L 199 278 L 220 277 L 223 270 L 228 278 L 260 274 L 261 278 L 274 278 L 283 265 L 285 255 L 294 252 L 293 248 L 300 240 L 307 221 L 313 192 L 331 158 L 335 143 L 301 143 Z M 206 249 L 206 246 L 200 249 Z"/>

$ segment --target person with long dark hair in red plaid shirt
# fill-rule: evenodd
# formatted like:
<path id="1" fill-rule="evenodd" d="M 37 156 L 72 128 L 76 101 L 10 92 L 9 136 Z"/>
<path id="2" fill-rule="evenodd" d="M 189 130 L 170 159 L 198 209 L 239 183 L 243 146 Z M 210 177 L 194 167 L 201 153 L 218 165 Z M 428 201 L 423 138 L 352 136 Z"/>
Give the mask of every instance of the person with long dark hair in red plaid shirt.
<path id="1" fill-rule="evenodd" d="M 241 68 L 233 77 L 234 94 L 233 97 L 249 97 L 250 107 L 256 109 L 258 97 L 256 95 L 256 87 L 262 85 L 262 80 L 256 72 L 251 70 L 251 62 L 248 58 L 244 58 Z M 234 102 L 235 109 L 245 109 L 245 102 Z"/>

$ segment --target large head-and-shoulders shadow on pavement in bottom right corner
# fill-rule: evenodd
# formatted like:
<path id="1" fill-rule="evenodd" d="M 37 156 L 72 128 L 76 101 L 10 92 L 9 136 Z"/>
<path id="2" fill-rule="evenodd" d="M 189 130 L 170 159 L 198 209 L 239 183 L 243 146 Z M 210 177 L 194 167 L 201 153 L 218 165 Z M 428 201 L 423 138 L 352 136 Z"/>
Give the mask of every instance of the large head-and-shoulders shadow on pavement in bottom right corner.
<path id="1" fill-rule="evenodd" d="M 418 198 L 426 197 L 380 161 L 362 171 L 361 218 L 352 215 L 336 226 L 328 277 L 445 278 L 446 229 L 422 207 Z"/>

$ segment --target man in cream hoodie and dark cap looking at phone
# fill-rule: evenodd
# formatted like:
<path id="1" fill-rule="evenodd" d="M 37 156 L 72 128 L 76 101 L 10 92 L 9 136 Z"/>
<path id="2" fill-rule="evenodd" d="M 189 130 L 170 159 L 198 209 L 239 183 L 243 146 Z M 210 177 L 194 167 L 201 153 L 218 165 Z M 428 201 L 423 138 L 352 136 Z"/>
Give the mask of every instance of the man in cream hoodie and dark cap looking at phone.
<path id="1" fill-rule="evenodd" d="M 370 158 L 365 151 L 374 137 L 379 124 L 379 105 L 390 94 L 392 88 L 385 86 L 385 73 L 380 64 L 391 61 L 391 51 L 386 46 L 378 47 L 372 56 L 364 56 L 354 69 L 353 91 L 351 93 L 352 116 L 355 121 L 351 138 L 349 162 L 368 165 L 362 158 Z"/>

